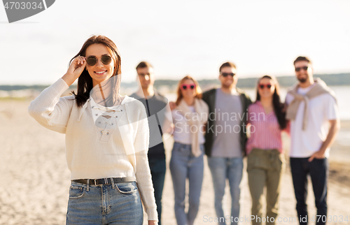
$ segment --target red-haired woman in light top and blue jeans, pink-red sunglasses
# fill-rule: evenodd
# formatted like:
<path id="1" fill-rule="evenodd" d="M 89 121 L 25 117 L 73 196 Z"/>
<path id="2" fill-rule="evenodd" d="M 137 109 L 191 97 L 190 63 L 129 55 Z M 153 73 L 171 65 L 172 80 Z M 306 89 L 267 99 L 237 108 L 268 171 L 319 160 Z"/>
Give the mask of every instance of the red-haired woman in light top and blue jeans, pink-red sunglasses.
<path id="1" fill-rule="evenodd" d="M 172 110 L 174 147 L 170 172 L 174 184 L 175 217 L 178 225 L 192 225 L 200 208 L 204 170 L 204 125 L 209 108 L 202 98 L 197 81 L 186 75 L 177 87 Z M 188 212 L 185 212 L 186 180 L 189 182 Z"/>

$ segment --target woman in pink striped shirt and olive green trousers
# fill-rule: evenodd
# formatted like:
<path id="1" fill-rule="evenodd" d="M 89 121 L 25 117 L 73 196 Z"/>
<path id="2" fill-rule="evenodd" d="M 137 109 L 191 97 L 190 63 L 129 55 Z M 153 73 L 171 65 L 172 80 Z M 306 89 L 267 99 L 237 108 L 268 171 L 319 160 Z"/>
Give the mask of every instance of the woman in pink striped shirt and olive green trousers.
<path id="1" fill-rule="evenodd" d="M 256 101 L 248 108 L 250 138 L 246 143 L 248 184 L 251 191 L 252 224 L 274 224 L 279 209 L 281 178 L 285 168 L 281 132 L 288 127 L 286 113 L 279 97 L 279 83 L 272 75 L 258 80 Z M 266 196 L 264 188 L 266 187 Z M 262 219 L 262 201 L 267 203 L 266 217 Z"/>

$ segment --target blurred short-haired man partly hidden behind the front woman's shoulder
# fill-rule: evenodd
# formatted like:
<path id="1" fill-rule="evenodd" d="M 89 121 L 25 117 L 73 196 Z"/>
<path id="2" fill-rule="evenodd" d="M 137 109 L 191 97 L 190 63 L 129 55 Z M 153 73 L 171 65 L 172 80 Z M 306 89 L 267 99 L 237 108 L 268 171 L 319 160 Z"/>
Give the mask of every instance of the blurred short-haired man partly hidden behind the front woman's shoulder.
<path id="1" fill-rule="evenodd" d="M 162 142 L 162 135 L 165 132 L 165 116 L 169 108 L 167 99 L 160 95 L 154 88 L 155 77 L 153 66 L 147 61 L 141 61 L 137 67 L 137 78 L 139 89 L 130 95 L 138 99 L 146 108 L 148 114 L 148 126 L 150 129 L 150 142 L 148 149 L 148 163 L 151 168 L 153 188 L 155 192 L 155 203 L 157 204 L 158 224 L 161 225 L 162 215 L 162 192 L 165 181 L 165 148 Z M 171 119 L 172 118 L 168 118 Z"/>

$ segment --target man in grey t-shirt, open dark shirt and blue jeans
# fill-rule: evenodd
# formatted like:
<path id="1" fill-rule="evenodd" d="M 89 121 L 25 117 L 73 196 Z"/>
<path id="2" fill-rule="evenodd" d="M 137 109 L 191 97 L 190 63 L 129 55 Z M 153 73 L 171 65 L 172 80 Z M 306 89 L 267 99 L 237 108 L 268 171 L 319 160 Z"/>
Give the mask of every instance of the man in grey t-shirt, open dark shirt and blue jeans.
<path id="1" fill-rule="evenodd" d="M 228 217 L 223 212 L 226 179 L 232 198 L 231 224 L 239 220 L 240 183 L 243 173 L 243 156 L 246 146 L 247 109 L 251 99 L 236 87 L 236 66 L 225 62 L 220 66 L 218 79 L 221 87 L 203 93 L 209 106 L 206 142 L 204 144 L 214 183 L 215 210 L 219 224 Z M 235 222 L 235 218 L 236 222 Z"/>

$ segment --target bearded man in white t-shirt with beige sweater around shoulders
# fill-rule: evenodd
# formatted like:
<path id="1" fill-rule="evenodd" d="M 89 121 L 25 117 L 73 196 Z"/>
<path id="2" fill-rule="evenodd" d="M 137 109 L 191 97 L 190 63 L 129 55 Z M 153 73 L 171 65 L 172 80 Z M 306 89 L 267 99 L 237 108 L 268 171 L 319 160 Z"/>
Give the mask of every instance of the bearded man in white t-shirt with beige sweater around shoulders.
<path id="1" fill-rule="evenodd" d="M 307 57 L 297 57 L 294 66 L 299 82 L 288 92 L 286 104 L 297 215 L 300 224 L 307 224 L 310 218 L 316 224 L 325 224 L 329 150 L 339 130 L 337 101 L 322 80 L 314 80 Z M 311 177 L 317 208 L 317 215 L 313 217 L 307 215 L 307 175 Z"/>

